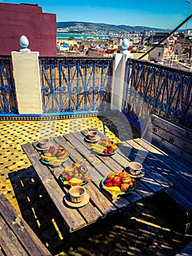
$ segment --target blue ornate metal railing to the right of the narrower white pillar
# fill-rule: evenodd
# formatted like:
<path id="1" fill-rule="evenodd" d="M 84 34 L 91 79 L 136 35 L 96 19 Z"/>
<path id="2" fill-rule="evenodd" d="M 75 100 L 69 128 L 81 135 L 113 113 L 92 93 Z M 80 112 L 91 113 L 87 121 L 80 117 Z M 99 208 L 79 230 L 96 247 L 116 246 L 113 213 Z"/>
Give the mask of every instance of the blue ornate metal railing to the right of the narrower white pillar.
<path id="1" fill-rule="evenodd" d="M 152 113 L 192 128 L 192 73 L 128 59 L 122 112 L 145 129 Z"/>

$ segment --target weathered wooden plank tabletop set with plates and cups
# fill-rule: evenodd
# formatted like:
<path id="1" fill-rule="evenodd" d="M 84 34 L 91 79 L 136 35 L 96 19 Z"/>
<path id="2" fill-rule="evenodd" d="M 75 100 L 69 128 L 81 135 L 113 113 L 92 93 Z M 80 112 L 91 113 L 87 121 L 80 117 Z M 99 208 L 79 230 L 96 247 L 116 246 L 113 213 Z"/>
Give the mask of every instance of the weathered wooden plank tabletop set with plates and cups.
<path id="1" fill-rule="evenodd" d="M 81 208 L 70 208 L 64 201 L 68 188 L 59 182 L 59 175 L 64 170 L 64 166 L 53 168 L 43 165 L 39 157 L 41 152 L 35 148 L 37 143 L 26 143 L 23 145 L 23 150 L 37 171 L 39 179 L 45 186 L 56 208 L 58 208 L 58 211 L 64 218 L 69 232 L 90 225 L 115 212 L 122 211 L 139 200 L 156 195 L 172 186 L 172 183 L 156 172 L 155 168 L 148 167 L 144 162 L 145 176 L 137 179 L 137 187 L 126 196 L 112 200 L 111 195 L 104 189 L 101 189 L 101 180 L 108 173 L 112 171 L 120 172 L 128 166 L 128 163 L 131 162 L 128 157 L 134 157 L 135 154 L 134 151 L 131 152 L 130 146 L 130 143 L 133 141 L 124 141 L 119 146 L 116 154 L 104 157 L 93 154 L 91 143 L 87 143 L 84 140 L 87 134 L 88 131 L 74 132 L 63 137 L 52 138 L 51 142 L 53 146 L 65 146 L 66 151 L 69 153 L 69 159 L 64 162 L 64 166 L 71 165 L 73 162 L 80 162 L 86 165 L 91 172 L 92 180 L 85 184 L 90 200 L 87 205 Z"/>

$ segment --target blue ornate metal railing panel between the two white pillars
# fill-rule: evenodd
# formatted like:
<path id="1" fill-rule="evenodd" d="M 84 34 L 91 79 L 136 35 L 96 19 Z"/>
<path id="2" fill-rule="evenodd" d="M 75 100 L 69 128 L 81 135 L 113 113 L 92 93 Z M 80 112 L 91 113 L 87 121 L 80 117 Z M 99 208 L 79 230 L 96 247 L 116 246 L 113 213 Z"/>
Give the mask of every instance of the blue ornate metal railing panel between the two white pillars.
<path id="1" fill-rule="evenodd" d="M 44 113 L 110 108 L 113 58 L 39 58 Z"/>

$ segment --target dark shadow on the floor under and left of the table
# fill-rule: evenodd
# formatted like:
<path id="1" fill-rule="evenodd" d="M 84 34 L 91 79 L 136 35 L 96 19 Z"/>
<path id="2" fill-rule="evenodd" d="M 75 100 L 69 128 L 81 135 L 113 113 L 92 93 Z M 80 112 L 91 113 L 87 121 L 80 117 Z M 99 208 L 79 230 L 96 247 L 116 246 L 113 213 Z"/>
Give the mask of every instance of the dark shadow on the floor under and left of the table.
<path id="1" fill-rule="evenodd" d="M 23 219 L 53 255 L 173 256 L 190 241 L 170 229 L 174 220 L 150 199 L 69 234 L 33 167 L 9 173 L 9 179 Z"/>

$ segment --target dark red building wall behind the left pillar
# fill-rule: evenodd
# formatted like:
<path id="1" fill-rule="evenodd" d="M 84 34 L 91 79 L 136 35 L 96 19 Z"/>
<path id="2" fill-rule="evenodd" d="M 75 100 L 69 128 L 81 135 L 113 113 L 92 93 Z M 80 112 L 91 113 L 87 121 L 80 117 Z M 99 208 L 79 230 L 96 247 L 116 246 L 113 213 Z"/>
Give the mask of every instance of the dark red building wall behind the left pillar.
<path id="1" fill-rule="evenodd" d="M 19 39 L 28 38 L 28 48 L 40 56 L 56 56 L 56 15 L 42 12 L 38 4 L 0 3 L 0 55 L 19 51 Z"/>

